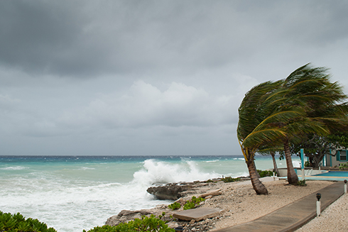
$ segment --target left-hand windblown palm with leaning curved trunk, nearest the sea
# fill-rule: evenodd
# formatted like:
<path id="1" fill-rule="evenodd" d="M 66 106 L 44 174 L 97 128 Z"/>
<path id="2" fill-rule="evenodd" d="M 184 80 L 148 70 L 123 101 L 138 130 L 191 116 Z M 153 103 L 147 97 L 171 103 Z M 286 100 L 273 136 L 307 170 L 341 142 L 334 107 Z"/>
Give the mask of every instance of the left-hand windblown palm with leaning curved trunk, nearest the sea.
<path id="1" fill-rule="evenodd" d="M 291 118 L 298 117 L 301 111 L 288 108 L 277 111 L 279 101 L 274 94 L 282 86 L 283 81 L 263 82 L 252 88 L 244 96 L 239 106 L 239 122 L 237 137 L 249 170 L 251 183 L 257 194 L 268 194 L 266 187 L 256 175 L 254 156 L 266 143 L 275 143 L 279 138 L 286 137 L 286 131 L 277 126 L 276 122 L 289 123 Z"/>

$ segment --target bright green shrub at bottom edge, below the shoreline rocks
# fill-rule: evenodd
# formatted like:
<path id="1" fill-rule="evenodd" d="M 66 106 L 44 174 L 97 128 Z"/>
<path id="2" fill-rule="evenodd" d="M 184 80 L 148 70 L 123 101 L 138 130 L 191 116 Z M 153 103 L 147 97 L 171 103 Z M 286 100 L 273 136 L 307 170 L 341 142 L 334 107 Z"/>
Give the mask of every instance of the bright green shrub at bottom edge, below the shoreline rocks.
<path id="1" fill-rule="evenodd" d="M 162 214 L 163 215 L 163 214 Z M 164 215 L 163 215 L 164 216 Z M 169 228 L 161 219 L 151 215 L 142 216 L 141 219 L 134 219 L 128 223 L 120 223 L 117 226 L 97 226 L 87 232 L 175 232 L 175 229 Z M 86 232 L 83 230 L 83 232 Z"/>

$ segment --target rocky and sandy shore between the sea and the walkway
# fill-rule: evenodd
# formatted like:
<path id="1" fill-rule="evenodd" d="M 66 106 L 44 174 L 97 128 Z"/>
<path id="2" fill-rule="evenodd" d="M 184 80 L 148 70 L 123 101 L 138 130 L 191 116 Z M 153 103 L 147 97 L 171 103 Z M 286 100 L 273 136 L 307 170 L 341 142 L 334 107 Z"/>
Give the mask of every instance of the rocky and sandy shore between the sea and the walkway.
<path id="1" fill-rule="evenodd" d="M 172 217 L 173 214 L 183 211 L 183 207 L 172 210 L 168 208 L 168 205 L 163 204 L 153 209 L 122 210 L 119 214 L 107 219 L 106 224 L 115 226 L 135 218 L 141 218 L 141 216 L 163 215 L 164 212 L 163 219 L 168 221 L 168 226 L 171 228 L 182 226 L 187 232 L 214 231 L 257 219 L 332 184 L 329 181 L 307 181 L 307 186 L 300 187 L 288 185 L 285 180 L 270 180 L 273 180 L 273 177 L 263 179 L 263 184 L 269 192 L 267 196 L 257 195 L 250 180 L 246 179 L 240 182 L 227 183 L 220 179 L 214 179 L 209 182 L 177 183 L 150 187 L 148 192 L 159 196 L 159 199 L 172 199 L 174 201 L 176 198 L 175 202 L 183 206 L 192 196 L 204 197 L 205 201 L 202 201 L 197 207 L 219 208 L 223 211 L 217 216 L 202 221 L 183 221 Z"/>

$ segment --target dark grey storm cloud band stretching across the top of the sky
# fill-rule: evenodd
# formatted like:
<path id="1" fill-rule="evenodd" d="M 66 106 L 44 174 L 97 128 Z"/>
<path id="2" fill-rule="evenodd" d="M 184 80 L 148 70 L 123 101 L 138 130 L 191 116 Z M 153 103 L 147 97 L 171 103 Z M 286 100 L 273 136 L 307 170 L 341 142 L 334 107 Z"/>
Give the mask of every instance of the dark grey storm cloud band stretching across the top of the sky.
<path id="1" fill-rule="evenodd" d="M 347 35 L 346 1 L 299 3 L 1 1 L 0 62 L 67 76 L 195 70 L 266 53 L 276 40 L 301 47 Z"/>

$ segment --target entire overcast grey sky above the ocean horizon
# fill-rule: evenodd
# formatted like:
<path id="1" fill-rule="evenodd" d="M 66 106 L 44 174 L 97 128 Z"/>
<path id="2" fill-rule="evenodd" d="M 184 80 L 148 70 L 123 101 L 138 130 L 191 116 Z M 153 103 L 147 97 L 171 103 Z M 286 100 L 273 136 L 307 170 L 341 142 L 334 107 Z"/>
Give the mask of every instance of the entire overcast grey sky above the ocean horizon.
<path id="1" fill-rule="evenodd" d="M 241 155 L 254 85 L 348 93 L 348 1 L 0 1 L 0 155 Z"/>

